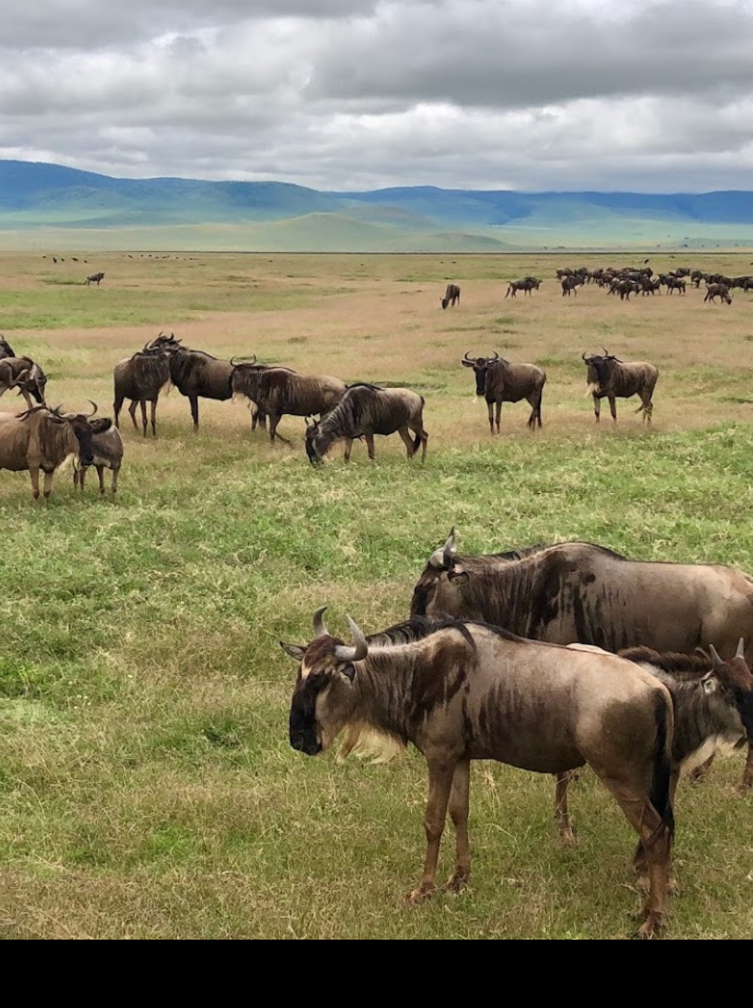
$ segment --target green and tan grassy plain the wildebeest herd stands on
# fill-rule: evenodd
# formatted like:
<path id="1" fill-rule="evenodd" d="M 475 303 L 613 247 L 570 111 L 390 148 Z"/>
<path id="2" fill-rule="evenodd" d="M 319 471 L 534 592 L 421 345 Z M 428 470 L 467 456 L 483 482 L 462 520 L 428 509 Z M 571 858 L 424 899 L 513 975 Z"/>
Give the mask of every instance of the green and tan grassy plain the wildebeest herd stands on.
<path id="1" fill-rule="evenodd" d="M 404 618 L 452 524 L 469 551 L 585 538 L 753 572 L 753 295 L 562 298 L 564 255 L 75 254 L 88 264 L 0 256 L 0 332 L 45 367 L 50 401 L 109 412 L 114 364 L 171 330 L 220 356 L 409 384 L 429 454 L 407 465 L 379 439 L 374 465 L 356 446 L 350 467 L 335 451 L 312 470 L 301 420 L 281 425 L 292 450 L 272 449 L 243 403 L 203 402 L 194 435 L 172 391 L 156 442 L 124 427 L 116 502 L 77 498 L 64 472 L 34 506 L 26 474 L 0 474 L 0 936 L 625 936 L 633 835 L 589 773 L 572 851 L 549 778 L 476 765 L 472 885 L 405 907 L 423 760 L 292 752 L 295 669 L 277 642 L 307 641 L 325 604 L 342 631 L 346 613 L 367 632 Z M 750 253 L 651 264 L 744 273 Z M 84 286 L 95 269 L 102 287 Z M 539 293 L 505 299 L 525 273 Z M 443 311 L 450 280 L 462 303 Z M 659 368 L 653 431 L 632 402 L 595 426 L 581 354 L 602 345 Z M 540 434 L 517 405 L 490 438 L 460 358 L 494 349 L 546 367 Z M 739 772 L 729 760 L 680 789 L 673 937 L 750 934 Z M 452 847 L 449 831 L 446 868 Z"/>

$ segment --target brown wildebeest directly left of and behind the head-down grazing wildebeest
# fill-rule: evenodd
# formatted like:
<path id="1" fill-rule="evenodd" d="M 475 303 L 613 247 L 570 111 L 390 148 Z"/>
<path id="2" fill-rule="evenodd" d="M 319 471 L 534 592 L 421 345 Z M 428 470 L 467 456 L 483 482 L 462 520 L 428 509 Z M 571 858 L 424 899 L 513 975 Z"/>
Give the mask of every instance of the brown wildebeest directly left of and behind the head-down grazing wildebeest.
<path id="1" fill-rule="evenodd" d="M 345 394 L 345 382 L 329 375 L 299 375 L 289 368 L 267 367 L 252 363 L 230 362 L 233 367 L 232 388 L 234 395 L 244 395 L 256 405 L 259 414 L 269 417 L 269 439 L 275 435 L 281 442 L 290 442 L 277 432 L 277 424 L 285 414 L 290 416 L 326 416 L 337 406 Z"/>

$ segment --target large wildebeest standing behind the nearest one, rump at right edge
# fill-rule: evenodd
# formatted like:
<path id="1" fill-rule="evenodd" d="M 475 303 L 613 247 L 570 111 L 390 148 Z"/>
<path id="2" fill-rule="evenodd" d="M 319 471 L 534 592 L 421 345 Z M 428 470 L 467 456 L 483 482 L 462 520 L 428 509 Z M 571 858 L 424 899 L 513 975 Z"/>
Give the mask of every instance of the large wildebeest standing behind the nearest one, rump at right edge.
<path id="1" fill-rule="evenodd" d="M 717 563 L 631 560 L 590 542 L 457 555 L 455 529 L 428 558 L 411 616 L 483 620 L 553 644 L 753 657 L 753 578 Z M 753 784 L 753 748 L 743 786 Z"/>

